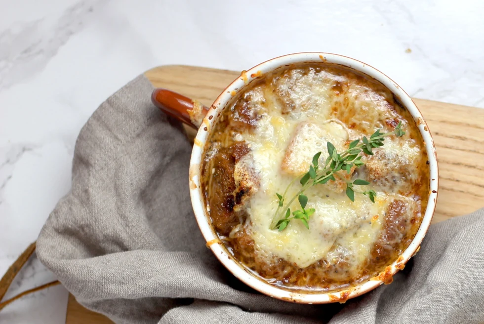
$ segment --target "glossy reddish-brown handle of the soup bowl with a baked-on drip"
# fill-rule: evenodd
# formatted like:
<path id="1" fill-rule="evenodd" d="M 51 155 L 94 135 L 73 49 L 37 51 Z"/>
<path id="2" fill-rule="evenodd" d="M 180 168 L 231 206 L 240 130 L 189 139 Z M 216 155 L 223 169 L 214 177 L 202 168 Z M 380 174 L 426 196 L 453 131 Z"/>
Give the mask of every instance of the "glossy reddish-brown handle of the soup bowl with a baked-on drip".
<path id="1" fill-rule="evenodd" d="M 202 124 L 208 108 L 198 100 L 192 100 L 174 91 L 157 88 L 151 94 L 151 101 L 166 115 L 174 117 L 195 129 Z"/>

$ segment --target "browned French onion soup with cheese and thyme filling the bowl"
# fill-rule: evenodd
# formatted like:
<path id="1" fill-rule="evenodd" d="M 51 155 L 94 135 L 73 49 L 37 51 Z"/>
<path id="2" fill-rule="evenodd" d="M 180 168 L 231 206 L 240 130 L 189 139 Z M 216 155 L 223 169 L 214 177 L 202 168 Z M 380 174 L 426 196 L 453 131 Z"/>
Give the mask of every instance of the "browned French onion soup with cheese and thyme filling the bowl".
<path id="1" fill-rule="evenodd" d="M 417 125 L 380 82 L 298 64 L 234 95 L 202 156 L 220 241 L 261 280 L 326 292 L 378 276 L 415 236 L 429 165 Z"/>

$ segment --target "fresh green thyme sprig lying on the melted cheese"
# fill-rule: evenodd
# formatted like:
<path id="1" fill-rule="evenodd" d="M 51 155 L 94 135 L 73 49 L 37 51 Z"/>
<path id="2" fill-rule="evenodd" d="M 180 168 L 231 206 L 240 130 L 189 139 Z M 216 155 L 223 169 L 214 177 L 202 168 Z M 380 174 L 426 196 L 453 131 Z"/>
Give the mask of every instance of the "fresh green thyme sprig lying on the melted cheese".
<path id="1" fill-rule="evenodd" d="M 402 122 L 399 122 L 393 132 L 380 133 L 380 129 L 377 129 L 370 136 L 369 139 L 364 136 L 361 140 L 354 140 L 350 143 L 349 148 L 341 154 L 337 152 L 333 144 L 327 142 L 327 150 L 329 156 L 326 158 L 324 166 L 321 167 L 319 165 L 319 158 L 321 156 L 321 152 L 316 153 L 313 157 L 312 164 L 309 166 L 308 172 L 292 180 L 282 195 L 276 193 L 276 196 L 279 200 L 279 205 L 276 209 L 274 218 L 272 219 L 271 229 L 279 229 L 279 231 L 281 232 L 293 219 L 301 220 L 304 226 L 309 229 L 308 220 L 309 217 L 315 212 L 315 209 L 305 209 L 308 203 L 308 197 L 304 195 L 304 192 L 314 185 L 325 184 L 329 180 L 336 180 L 334 175 L 338 176 L 346 182 L 346 196 L 348 196 L 348 198 L 352 202 L 355 201 L 355 192 L 368 196 L 368 198 L 372 202 L 375 202 L 376 193 L 373 190 L 360 192 L 355 191 L 353 187 L 354 185 L 369 185 L 368 181 L 363 179 L 356 179 L 353 182 L 347 181 L 344 177 L 340 176 L 336 172 L 338 172 L 339 170 L 345 170 L 348 174 L 350 174 L 351 168 L 353 166 L 358 168 L 364 164 L 364 162 L 362 161 L 362 153 L 365 153 L 367 155 L 373 155 L 373 149 L 382 147 L 383 141 L 385 140 L 386 136 L 396 135 L 398 137 L 401 137 L 404 134 L 405 132 L 402 130 Z M 289 188 L 292 187 L 294 182 L 299 178 L 299 183 L 302 185 L 301 189 L 296 193 L 296 195 L 294 195 L 294 197 L 289 200 L 289 202 L 285 203 L 285 196 Z M 289 208 L 289 206 L 296 200 L 296 198 L 298 199 L 301 209 L 293 211 L 291 217 L 291 209 Z"/>

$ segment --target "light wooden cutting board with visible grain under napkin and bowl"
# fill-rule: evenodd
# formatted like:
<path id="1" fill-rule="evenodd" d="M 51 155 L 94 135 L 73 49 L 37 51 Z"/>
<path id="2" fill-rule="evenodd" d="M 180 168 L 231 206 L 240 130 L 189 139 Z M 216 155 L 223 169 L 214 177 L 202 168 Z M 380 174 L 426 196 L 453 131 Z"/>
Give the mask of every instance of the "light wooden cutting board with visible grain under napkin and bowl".
<path id="1" fill-rule="evenodd" d="M 181 65 L 161 66 L 145 73 L 155 87 L 179 92 L 208 107 L 239 75 L 234 71 Z M 439 159 L 439 198 L 432 223 L 483 207 L 484 109 L 423 99 L 414 101 L 429 125 Z M 193 136 L 192 129 L 187 131 Z M 112 322 L 86 310 L 70 295 L 66 324 L 81 323 Z"/>

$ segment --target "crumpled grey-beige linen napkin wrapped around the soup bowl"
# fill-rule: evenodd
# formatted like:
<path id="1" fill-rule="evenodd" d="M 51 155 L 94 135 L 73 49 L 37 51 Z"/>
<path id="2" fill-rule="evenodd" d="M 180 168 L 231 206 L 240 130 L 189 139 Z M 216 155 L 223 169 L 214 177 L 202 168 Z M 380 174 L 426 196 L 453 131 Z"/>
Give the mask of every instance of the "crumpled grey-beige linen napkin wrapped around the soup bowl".
<path id="1" fill-rule="evenodd" d="M 188 191 L 191 146 L 139 76 L 76 143 L 72 190 L 38 242 L 45 266 L 117 323 L 483 323 L 484 210 L 432 225 L 394 282 L 345 305 L 262 295 L 205 247 Z"/>

